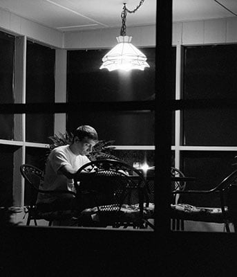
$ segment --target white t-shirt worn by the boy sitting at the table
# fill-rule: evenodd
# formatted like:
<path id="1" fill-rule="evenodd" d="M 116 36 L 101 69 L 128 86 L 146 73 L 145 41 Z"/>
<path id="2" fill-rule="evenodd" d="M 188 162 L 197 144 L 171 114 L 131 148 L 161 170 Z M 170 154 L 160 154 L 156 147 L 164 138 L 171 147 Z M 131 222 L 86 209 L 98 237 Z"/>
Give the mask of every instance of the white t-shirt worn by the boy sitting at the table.
<path id="1" fill-rule="evenodd" d="M 85 163 L 90 162 L 88 157 L 82 155 L 75 155 L 69 148 L 69 145 L 59 146 L 53 149 L 46 163 L 46 172 L 44 175 L 44 184 L 39 188 L 42 190 L 72 190 L 75 191 L 73 179 L 68 179 L 65 175 L 59 172 L 62 166 L 69 165 L 75 170 L 79 170 Z M 39 193 L 37 203 L 50 203 L 55 199 L 71 198 L 70 194 L 52 195 L 49 193 Z"/>

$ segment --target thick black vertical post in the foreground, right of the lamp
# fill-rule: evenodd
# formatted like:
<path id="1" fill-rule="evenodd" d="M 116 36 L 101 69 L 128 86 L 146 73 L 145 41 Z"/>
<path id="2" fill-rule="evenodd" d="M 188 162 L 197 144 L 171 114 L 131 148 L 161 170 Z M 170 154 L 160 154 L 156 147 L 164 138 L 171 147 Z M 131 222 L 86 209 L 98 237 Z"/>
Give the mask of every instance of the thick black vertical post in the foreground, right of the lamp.
<path id="1" fill-rule="evenodd" d="M 170 231 L 172 0 L 157 1 L 155 95 L 155 231 Z"/>

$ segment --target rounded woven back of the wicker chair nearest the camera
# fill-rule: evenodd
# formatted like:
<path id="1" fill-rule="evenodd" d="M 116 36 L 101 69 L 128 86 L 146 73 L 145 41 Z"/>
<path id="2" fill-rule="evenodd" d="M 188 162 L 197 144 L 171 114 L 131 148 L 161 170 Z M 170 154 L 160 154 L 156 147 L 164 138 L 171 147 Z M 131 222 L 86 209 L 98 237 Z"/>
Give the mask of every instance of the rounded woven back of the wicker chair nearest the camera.
<path id="1" fill-rule="evenodd" d="M 98 212 L 119 213 L 122 204 L 139 203 L 143 213 L 146 180 L 142 172 L 122 161 L 106 159 L 86 163 L 77 171 L 75 186 L 80 193 L 91 193 Z"/>

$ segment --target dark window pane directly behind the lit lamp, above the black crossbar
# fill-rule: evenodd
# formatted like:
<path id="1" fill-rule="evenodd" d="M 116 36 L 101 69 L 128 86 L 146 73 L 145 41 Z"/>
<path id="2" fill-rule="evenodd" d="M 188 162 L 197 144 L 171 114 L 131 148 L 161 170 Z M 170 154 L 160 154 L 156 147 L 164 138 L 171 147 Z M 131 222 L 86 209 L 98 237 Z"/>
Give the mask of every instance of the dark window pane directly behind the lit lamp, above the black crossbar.
<path id="1" fill-rule="evenodd" d="M 68 101 L 151 100 L 155 92 L 155 48 L 142 48 L 150 68 L 131 72 L 100 70 L 106 50 L 68 51 Z M 176 48 L 173 48 L 173 62 Z M 176 67 L 171 76 L 175 94 Z"/>

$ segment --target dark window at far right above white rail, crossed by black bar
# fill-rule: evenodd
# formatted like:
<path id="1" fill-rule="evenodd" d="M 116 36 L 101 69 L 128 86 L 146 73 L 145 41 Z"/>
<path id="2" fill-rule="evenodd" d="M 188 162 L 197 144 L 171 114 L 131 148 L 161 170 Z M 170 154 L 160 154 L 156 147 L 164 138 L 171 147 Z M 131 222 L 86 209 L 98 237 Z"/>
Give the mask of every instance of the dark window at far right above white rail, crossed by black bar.
<path id="1" fill-rule="evenodd" d="M 184 47 L 184 99 L 236 98 L 237 45 Z M 237 109 L 183 111 L 183 145 L 236 145 Z"/>

